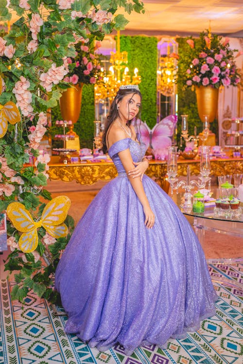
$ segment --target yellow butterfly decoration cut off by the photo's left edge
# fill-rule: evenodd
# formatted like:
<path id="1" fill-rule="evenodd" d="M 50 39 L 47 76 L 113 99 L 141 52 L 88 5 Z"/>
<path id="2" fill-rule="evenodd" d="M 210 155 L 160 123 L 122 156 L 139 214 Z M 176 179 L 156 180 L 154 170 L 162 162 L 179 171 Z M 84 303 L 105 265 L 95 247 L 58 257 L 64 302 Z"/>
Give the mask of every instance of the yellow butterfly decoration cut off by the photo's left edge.
<path id="1" fill-rule="evenodd" d="M 2 80 L 0 76 L 0 95 L 2 93 Z M 2 138 L 8 129 L 8 121 L 10 124 L 16 124 L 21 120 L 21 115 L 18 111 L 16 104 L 12 101 L 6 102 L 4 105 L 0 104 L 0 138 Z"/>

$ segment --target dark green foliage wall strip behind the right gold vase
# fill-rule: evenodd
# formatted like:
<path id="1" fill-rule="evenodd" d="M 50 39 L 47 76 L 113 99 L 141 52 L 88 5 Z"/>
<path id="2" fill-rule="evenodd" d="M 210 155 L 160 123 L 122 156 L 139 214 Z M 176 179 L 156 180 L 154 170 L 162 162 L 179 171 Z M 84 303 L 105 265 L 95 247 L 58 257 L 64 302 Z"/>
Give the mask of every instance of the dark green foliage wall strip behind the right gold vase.
<path id="1" fill-rule="evenodd" d="M 199 118 L 197 111 L 197 101 L 196 92 L 191 90 L 190 87 L 185 87 L 181 81 L 183 73 L 187 70 L 187 65 L 189 60 L 187 57 L 187 38 L 176 38 L 178 42 L 179 49 L 179 61 L 178 61 L 178 83 L 177 83 L 177 93 L 178 93 L 178 123 L 177 123 L 177 143 L 179 143 L 179 138 L 181 134 L 181 117 L 180 115 L 188 115 L 188 129 L 190 135 L 194 134 L 194 126 L 197 127 L 197 133 L 202 132 L 203 123 Z M 210 124 L 210 130 L 214 132 L 217 136 L 218 134 L 218 123 L 214 120 Z"/>

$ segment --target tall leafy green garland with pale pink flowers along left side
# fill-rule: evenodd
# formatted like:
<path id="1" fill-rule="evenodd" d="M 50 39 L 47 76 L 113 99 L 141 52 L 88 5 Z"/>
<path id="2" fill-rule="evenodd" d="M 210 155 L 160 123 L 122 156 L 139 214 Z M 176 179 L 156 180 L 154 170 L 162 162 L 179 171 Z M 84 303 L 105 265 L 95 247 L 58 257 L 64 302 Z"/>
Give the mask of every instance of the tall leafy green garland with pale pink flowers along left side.
<path id="1" fill-rule="evenodd" d="M 70 82 L 96 82 L 87 79 L 84 70 L 78 80 L 73 78 L 72 71 L 80 62 L 75 60 L 77 44 L 82 43 L 80 49 L 90 55 L 94 39 L 123 29 L 128 21 L 117 15 L 119 7 L 127 13 L 144 12 L 139 0 L 0 0 L 1 22 L 10 21 L 14 12 L 18 16 L 8 33 L 7 25 L 0 31 L 0 131 L 5 131 L 0 138 L 0 211 L 19 201 L 18 207 L 23 205 L 22 211 L 30 214 L 38 240 L 34 251 L 22 252 L 22 232 L 8 219 L 12 252 L 5 269 L 17 271 L 14 299 L 22 301 L 33 289 L 40 297 L 57 300 L 52 276 L 69 241 L 73 219 L 67 216 L 69 232 L 60 238 L 54 238 L 40 223 L 45 201 L 52 197 L 44 188 L 50 157 L 38 147 L 47 130 L 47 110 L 57 105 Z M 87 71 L 93 70 L 89 61 L 85 65 L 84 57 L 82 62 Z"/>

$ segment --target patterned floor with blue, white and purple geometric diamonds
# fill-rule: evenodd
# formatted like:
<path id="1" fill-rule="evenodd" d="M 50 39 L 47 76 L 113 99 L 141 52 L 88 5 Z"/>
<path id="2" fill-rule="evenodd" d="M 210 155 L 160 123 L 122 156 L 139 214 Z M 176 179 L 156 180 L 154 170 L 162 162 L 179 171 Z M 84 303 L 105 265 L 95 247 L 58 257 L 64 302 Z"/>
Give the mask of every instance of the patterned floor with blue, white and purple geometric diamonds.
<path id="1" fill-rule="evenodd" d="M 0 364 L 243 364 L 243 264 L 210 263 L 217 314 L 203 320 L 197 332 L 137 348 L 126 356 L 121 346 L 100 352 L 64 332 L 67 316 L 57 316 L 52 305 L 30 294 L 21 305 L 10 301 L 13 282 L 0 281 Z M 223 284 L 220 279 L 229 279 Z M 57 307 L 57 311 L 62 311 Z"/>

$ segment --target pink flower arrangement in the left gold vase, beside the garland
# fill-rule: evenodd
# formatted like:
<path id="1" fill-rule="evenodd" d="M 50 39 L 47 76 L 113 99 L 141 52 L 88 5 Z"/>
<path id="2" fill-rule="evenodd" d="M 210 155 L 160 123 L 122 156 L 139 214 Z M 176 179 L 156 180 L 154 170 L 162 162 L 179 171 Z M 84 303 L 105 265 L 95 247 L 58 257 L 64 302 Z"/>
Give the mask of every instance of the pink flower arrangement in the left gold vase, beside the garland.
<path id="1" fill-rule="evenodd" d="M 94 54 L 93 47 L 85 43 L 79 42 L 76 45 L 76 57 L 67 59 L 70 71 L 63 81 L 77 84 L 96 83 L 99 80 L 101 66 L 98 55 Z"/>

